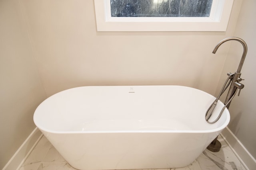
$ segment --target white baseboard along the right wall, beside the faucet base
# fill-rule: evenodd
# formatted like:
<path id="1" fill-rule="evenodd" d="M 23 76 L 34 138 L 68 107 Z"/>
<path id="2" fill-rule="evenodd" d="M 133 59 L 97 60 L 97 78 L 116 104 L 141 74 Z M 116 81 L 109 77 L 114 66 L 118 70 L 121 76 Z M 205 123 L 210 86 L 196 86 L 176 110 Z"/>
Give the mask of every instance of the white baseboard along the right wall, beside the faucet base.
<path id="1" fill-rule="evenodd" d="M 248 152 L 248 150 L 242 145 L 242 143 L 237 139 L 237 137 L 226 127 L 220 134 L 226 143 L 230 146 L 234 154 L 238 157 L 240 162 L 244 165 L 246 170 L 255 170 L 256 160 Z"/>

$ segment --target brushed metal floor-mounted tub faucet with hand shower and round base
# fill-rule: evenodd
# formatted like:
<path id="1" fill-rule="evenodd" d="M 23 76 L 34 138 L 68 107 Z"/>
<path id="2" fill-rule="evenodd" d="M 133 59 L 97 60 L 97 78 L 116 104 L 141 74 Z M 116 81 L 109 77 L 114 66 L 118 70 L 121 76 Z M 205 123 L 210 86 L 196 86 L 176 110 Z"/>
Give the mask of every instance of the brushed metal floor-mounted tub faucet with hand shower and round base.
<path id="1" fill-rule="evenodd" d="M 230 41 L 230 40 L 235 40 L 235 41 L 238 41 L 240 42 L 243 47 L 244 47 L 244 52 L 243 52 L 243 55 L 242 55 L 242 58 L 241 58 L 241 61 L 240 61 L 240 64 L 238 66 L 238 69 L 235 73 L 231 74 L 231 73 L 228 73 L 228 78 L 224 84 L 224 86 L 222 87 L 222 90 L 220 91 L 220 94 L 219 96 L 216 98 L 216 100 L 212 103 L 212 105 L 208 108 L 208 110 L 206 111 L 206 115 L 205 115 L 205 119 L 208 123 L 215 123 L 216 121 L 218 121 L 218 119 L 220 118 L 222 112 L 224 111 L 225 107 L 229 107 L 230 106 L 230 102 L 232 101 L 232 99 L 234 98 L 234 96 L 236 95 L 236 92 L 237 90 L 239 89 L 239 92 L 238 92 L 238 96 L 240 94 L 240 90 L 242 88 L 244 88 L 244 84 L 241 84 L 240 81 L 244 80 L 242 78 L 240 78 L 241 76 L 241 69 L 242 69 L 242 66 L 244 64 L 244 59 L 246 57 L 246 53 L 247 53 L 247 45 L 245 43 L 244 40 L 238 38 L 238 37 L 229 37 L 229 38 L 226 38 L 226 39 L 223 39 L 222 41 L 220 41 L 216 47 L 214 48 L 214 50 L 212 51 L 212 53 L 216 53 L 216 51 L 218 50 L 218 48 L 220 47 L 220 45 L 222 45 L 223 43 L 225 43 L 226 41 Z M 231 85 L 230 85 L 230 82 L 227 84 L 228 80 L 230 80 L 231 82 Z M 210 122 L 208 121 L 208 119 L 211 117 L 212 115 L 212 112 L 214 111 L 214 108 L 215 106 L 217 105 L 217 102 L 220 98 L 220 96 L 223 94 L 223 92 L 226 90 L 226 88 L 228 88 L 228 86 L 230 85 L 230 88 L 228 90 L 228 94 L 226 96 L 226 100 L 224 102 L 224 107 L 222 108 L 222 110 L 220 111 L 218 117 Z M 212 151 L 212 152 L 218 152 L 221 148 L 221 144 L 220 142 L 217 140 L 218 137 L 216 137 L 212 143 L 210 143 L 210 145 L 207 147 L 208 150 Z"/>

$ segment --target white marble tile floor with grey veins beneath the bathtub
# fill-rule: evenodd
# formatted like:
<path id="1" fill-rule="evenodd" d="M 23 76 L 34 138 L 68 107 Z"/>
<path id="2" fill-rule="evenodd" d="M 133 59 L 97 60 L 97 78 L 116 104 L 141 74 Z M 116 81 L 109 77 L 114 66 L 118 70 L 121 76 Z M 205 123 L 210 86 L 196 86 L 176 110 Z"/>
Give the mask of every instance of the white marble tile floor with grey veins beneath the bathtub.
<path id="1" fill-rule="evenodd" d="M 189 166 L 159 170 L 246 170 L 226 142 L 219 152 L 204 152 Z M 76 170 L 70 166 L 51 143 L 42 137 L 19 170 Z"/>

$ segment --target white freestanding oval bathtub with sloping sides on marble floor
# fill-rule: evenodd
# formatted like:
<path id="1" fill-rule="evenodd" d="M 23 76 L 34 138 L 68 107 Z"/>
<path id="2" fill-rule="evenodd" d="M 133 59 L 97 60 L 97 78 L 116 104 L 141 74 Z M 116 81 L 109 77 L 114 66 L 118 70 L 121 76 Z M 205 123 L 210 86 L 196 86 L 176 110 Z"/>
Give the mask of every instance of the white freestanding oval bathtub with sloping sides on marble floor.
<path id="1" fill-rule="evenodd" d="M 178 168 L 228 125 L 228 109 L 216 123 L 205 121 L 214 100 L 184 86 L 84 86 L 46 99 L 34 123 L 77 169 Z"/>

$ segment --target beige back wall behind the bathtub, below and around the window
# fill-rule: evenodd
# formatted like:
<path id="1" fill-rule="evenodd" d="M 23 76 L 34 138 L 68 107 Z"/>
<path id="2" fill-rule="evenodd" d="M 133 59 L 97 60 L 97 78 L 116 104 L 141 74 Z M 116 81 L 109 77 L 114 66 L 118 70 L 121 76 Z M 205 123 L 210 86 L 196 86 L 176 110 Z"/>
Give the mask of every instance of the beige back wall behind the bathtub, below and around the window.
<path id="1" fill-rule="evenodd" d="M 226 32 L 97 32 L 93 0 L 21 0 L 47 96 L 88 85 L 179 84 L 215 93 Z"/>

